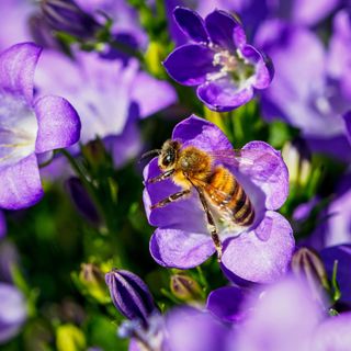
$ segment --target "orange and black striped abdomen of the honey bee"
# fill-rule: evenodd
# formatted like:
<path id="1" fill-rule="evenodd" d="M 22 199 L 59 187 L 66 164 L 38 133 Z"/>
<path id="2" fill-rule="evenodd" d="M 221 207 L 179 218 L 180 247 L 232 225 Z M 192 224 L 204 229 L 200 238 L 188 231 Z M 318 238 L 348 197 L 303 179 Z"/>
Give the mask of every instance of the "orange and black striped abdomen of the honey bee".
<path id="1" fill-rule="evenodd" d="M 231 212 L 234 223 L 240 226 L 252 224 L 254 210 L 251 201 L 228 169 L 216 167 L 207 180 L 205 192 L 219 212 Z"/>

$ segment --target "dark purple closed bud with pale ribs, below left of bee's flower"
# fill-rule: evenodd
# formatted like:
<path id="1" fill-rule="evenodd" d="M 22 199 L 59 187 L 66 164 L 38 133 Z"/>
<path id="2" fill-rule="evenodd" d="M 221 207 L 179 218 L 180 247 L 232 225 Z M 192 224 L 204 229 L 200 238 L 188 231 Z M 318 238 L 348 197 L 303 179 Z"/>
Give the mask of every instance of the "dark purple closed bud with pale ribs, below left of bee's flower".
<path id="1" fill-rule="evenodd" d="M 137 275 L 123 270 L 112 270 L 105 275 L 113 304 L 131 320 L 141 320 L 146 326 L 155 312 L 152 296 L 147 285 Z"/>

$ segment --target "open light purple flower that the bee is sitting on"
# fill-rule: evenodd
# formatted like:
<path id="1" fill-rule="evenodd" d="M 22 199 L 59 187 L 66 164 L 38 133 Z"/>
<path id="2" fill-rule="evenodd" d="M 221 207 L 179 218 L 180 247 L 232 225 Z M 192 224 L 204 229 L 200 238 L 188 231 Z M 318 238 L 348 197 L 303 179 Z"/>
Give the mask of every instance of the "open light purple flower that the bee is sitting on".
<path id="1" fill-rule="evenodd" d="M 176 126 L 172 139 L 181 143 L 181 147 L 194 146 L 216 155 L 229 150 L 233 156 L 233 147 L 219 128 L 194 115 Z M 241 152 L 246 158 L 228 161 L 219 156 L 214 161 L 227 167 L 236 177 L 256 213 L 249 227 L 234 227 L 230 219 L 224 225 L 217 223 L 223 242 L 222 267 L 230 276 L 272 282 L 285 273 L 294 249 L 292 228 L 275 212 L 287 196 L 287 170 L 280 152 L 263 141 L 251 141 Z M 216 250 L 199 196 L 193 191 L 183 200 L 151 210 L 151 205 L 181 190 L 171 180 L 148 182 L 158 174 L 160 169 L 154 159 L 144 172 L 147 217 L 158 227 L 150 241 L 151 256 L 165 267 L 196 267 Z"/>

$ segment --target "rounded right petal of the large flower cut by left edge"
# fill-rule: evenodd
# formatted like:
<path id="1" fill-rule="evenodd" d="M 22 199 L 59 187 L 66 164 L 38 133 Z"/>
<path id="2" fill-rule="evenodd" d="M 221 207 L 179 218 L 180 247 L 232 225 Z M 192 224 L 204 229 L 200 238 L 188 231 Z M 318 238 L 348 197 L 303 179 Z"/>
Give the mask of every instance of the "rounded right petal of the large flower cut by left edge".
<path id="1" fill-rule="evenodd" d="M 46 95 L 36 100 L 34 107 L 38 122 L 36 152 L 64 148 L 79 140 L 80 120 L 67 100 Z"/>

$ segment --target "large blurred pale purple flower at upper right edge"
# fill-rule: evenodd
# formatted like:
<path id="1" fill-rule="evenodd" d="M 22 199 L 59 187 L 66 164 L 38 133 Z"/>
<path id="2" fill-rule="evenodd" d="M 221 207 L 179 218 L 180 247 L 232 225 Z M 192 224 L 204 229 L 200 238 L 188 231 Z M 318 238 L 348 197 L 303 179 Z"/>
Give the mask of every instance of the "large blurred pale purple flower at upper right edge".
<path id="1" fill-rule="evenodd" d="M 256 43 L 272 57 L 275 68 L 274 81 L 262 92 L 265 118 L 283 118 L 302 129 L 312 149 L 346 159 L 351 149 L 342 115 L 351 109 L 350 69 L 341 47 L 350 38 L 335 30 L 326 50 L 310 30 L 272 20 L 260 27 Z"/>

